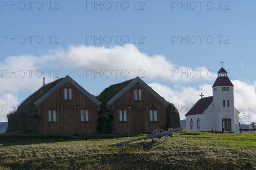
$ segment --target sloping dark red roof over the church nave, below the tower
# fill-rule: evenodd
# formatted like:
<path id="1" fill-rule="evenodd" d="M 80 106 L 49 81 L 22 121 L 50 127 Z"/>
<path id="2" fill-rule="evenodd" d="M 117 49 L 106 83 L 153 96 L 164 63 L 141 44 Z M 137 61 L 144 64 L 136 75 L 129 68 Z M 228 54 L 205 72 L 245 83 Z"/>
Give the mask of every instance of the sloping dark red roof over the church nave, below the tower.
<path id="1" fill-rule="evenodd" d="M 199 99 L 198 102 L 196 102 L 195 105 L 185 114 L 185 116 L 203 114 L 212 101 L 212 96 Z"/>

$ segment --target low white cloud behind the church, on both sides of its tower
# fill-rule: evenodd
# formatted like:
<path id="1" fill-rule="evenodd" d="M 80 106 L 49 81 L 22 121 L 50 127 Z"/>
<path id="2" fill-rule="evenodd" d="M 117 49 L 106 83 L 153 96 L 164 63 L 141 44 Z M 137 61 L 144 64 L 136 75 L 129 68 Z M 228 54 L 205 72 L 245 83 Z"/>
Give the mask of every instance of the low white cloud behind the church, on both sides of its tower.
<path id="1" fill-rule="evenodd" d="M 239 116 L 245 113 L 251 122 L 256 122 L 255 82 L 253 85 L 249 85 L 246 82 L 233 80 L 232 83 L 234 85 L 234 105 L 240 111 Z M 174 89 L 159 83 L 150 83 L 148 85 L 167 101 L 174 103 L 180 112 L 180 120 L 185 119 L 184 115 L 200 99 L 199 95 L 201 93 L 203 93 L 204 97 L 212 96 L 212 85 L 209 84 L 199 85 L 198 88 L 175 86 Z M 249 119 L 243 116 L 239 120 L 243 123 L 249 123 Z"/>

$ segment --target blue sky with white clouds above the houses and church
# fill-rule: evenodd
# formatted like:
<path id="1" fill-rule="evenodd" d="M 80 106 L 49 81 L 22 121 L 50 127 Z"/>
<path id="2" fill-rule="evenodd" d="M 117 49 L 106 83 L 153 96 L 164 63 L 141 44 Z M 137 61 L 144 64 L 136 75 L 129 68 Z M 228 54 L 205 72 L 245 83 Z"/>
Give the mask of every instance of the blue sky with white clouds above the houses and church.
<path id="1" fill-rule="evenodd" d="M 185 119 L 221 61 L 256 122 L 255 0 L 0 0 L 0 36 L 0 122 L 66 75 L 93 95 L 138 76 Z"/>

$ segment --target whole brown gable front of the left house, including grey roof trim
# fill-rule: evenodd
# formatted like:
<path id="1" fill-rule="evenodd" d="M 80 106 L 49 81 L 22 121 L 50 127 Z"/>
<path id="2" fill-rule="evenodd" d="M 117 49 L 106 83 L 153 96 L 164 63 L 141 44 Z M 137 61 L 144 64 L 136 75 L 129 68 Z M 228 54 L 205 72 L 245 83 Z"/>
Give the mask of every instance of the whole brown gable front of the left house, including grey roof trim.
<path id="1" fill-rule="evenodd" d="M 91 134 L 97 132 L 101 102 L 66 76 L 35 102 L 39 133 Z"/>

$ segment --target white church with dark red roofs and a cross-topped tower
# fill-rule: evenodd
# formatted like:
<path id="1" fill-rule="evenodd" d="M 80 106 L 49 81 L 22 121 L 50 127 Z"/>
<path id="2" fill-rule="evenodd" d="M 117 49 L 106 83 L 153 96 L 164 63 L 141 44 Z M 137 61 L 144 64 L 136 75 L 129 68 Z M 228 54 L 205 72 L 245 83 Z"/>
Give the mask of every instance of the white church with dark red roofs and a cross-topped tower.
<path id="1" fill-rule="evenodd" d="M 212 85 L 212 96 L 200 95 L 195 105 L 185 114 L 186 129 L 225 130 L 239 132 L 239 111 L 234 107 L 234 85 L 222 67 Z"/>

